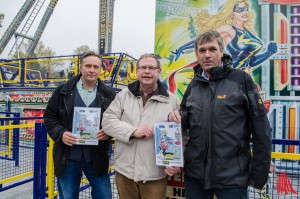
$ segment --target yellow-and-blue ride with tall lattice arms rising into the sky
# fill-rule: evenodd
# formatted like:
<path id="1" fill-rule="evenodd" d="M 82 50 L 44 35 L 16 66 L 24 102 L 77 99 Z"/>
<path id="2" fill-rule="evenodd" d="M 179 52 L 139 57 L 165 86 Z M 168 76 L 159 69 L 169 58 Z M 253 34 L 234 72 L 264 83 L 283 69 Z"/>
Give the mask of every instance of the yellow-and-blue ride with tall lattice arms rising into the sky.
<path id="1" fill-rule="evenodd" d="M 49 4 L 43 17 L 38 17 L 47 1 Z M 115 0 L 99 2 L 98 50 L 103 55 L 100 78 L 111 86 L 115 82 L 127 84 L 137 79 L 136 60 L 125 53 L 111 53 L 114 2 Z M 8 57 L 19 58 L 19 48 L 25 39 L 29 41 L 26 56 L 31 57 L 57 3 L 58 0 L 25 1 L 0 39 L 0 56 L 14 37 L 15 42 Z M 30 36 L 29 30 L 38 19 L 40 22 L 34 36 Z M 1 60 L 0 87 L 56 87 L 76 75 L 79 64 L 79 55 Z"/>

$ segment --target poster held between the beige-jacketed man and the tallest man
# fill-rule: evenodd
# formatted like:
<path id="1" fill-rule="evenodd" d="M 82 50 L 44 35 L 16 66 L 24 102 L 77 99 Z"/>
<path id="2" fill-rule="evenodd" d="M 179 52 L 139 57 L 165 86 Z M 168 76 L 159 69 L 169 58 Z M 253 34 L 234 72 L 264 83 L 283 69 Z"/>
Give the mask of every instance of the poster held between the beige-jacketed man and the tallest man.
<path id="1" fill-rule="evenodd" d="M 181 124 L 154 124 L 156 165 L 183 167 Z"/>

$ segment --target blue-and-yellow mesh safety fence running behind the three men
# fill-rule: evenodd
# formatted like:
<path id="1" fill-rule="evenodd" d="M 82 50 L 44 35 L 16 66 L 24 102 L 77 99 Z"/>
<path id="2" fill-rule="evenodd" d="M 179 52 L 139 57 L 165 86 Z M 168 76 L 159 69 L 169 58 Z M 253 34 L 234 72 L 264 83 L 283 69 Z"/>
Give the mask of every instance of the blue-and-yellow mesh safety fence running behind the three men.
<path id="1" fill-rule="evenodd" d="M 19 113 L 0 112 L 0 195 L 30 184 L 30 193 L 20 198 L 58 198 L 57 183 L 52 161 L 52 141 L 47 137 L 41 117 L 20 117 Z M 283 147 L 299 146 L 299 140 L 273 140 Z M 299 148 L 299 147 L 297 147 Z M 300 155 L 295 153 L 272 153 L 269 180 L 262 191 L 249 188 L 250 198 L 299 198 Z M 111 164 L 113 148 L 111 147 Z M 110 166 L 113 198 L 118 193 L 114 182 L 114 169 Z M 91 198 L 90 186 L 83 177 L 80 198 Z M 24 194 L 29 194 L 28 197 Z M 9 196 L 5 197 L 9 198 Z M 183 174 L 168 179 L 166 198 L 185 198 Z"/>

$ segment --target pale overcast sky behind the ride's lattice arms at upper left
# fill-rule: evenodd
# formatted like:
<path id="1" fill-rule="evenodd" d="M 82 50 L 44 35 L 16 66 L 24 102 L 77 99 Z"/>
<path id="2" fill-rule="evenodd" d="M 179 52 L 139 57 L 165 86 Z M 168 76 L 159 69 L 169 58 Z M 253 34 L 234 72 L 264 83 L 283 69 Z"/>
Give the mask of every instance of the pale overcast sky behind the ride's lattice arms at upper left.
<path id="1" fill-rule="evenodd" d="M 25 0 L 0 0 L 0 13 L 5 14 L 0 38 L 24 2 Z M 59 0 L 40 40 L 54 50 L 56 55 L 70 55 L 81 45 L 98 50 L 99 2 Z M 146 52 L 154 52 L 155 2 L 115 0 L 113 52 L 126 52 L 135 58 Z M 48 4 L 49 0 L 46 0 L 45 9 Z M 43 14 L 44 10 L 39 16 L 42 17 Z M 35 27 L 38 26 L 37 21 Z M 31 30 L 28 35 L 33 36 L 35 30 L 36 28 Z M 14 41 L 14 38 L 10 40 L 0 58 L 7 58 Z"/>

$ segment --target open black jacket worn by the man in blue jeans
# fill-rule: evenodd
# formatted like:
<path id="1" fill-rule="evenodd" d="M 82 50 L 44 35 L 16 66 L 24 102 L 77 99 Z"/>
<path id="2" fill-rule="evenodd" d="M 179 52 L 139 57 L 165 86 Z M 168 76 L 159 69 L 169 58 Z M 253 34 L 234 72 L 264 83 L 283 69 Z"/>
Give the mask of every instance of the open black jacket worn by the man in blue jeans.
<path id="1" fill-rule="evenodd" d="M 57 177 L 62 177 L 71 152 L 71 147 L 62 142 L 62 135 L 66 131 L 72 132 L 74 89 L 80 77 L 81 75 L 72 77 L 68 82 L 56 88 L 44 113 L 46 131 L 54 141 L 54 173 Z M 95 107 L 101 107 L 101 118 L 114 98 L 114 90 L 98 79 Z M 109 142 L 109 139 L 99 141 L 97 146 L 92 146 L 93 166 L 98 176 L 108 172 Z"/>

